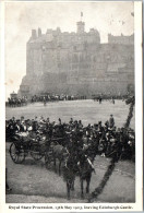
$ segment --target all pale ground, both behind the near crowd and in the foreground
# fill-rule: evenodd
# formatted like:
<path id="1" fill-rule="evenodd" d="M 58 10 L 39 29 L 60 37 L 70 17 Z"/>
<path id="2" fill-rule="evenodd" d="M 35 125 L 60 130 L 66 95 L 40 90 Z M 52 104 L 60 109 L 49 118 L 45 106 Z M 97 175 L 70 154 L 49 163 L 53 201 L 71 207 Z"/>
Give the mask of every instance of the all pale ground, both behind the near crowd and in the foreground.
<path id="1" fill-rule="evenodd" d="M 68 122 L 70 118 L 82 120 L 83 125 L 103 123 L 109 119 L 109 115 L 115 117 L 116 126 L 122 127 L 129 114 L 129 105 L 122 100 L 110 102 L 70 100 L 31 104 L 24 107 L 7 107 L 7 119 L 13 116 L 20 119 L 33 119 L 35 116 L 49 117 L 50 121 Z M 131 127 L 135 129 L 135 115 L 131 120 Z M 81 200 L 81 186 L 79 178 L 75 179 L 75 190 L 71 193 L 71 200 L 67 200 L 65 182 L 62 177 L 51 170 L 47 170 L 44 159 L 35 162 L 31 156 L 22 165 L 14 164 L 9 154 L 10 143 L 7 143 L 7 167 L 8 181 L 12 187 L 12 192 L 7 194 L 8 203 L 82 203 L 87 202 L 87 196 Z M 100 184 L 110 159 L 96 156 L 94 167 L 96 175 L 93 174 L 91 181 L 91 193 Z M 135 165 L 132 162 L 118 162 L 115 171 L 110 176 L 103 193 L 94 202 L 134 202 L 135 201 Z"/>

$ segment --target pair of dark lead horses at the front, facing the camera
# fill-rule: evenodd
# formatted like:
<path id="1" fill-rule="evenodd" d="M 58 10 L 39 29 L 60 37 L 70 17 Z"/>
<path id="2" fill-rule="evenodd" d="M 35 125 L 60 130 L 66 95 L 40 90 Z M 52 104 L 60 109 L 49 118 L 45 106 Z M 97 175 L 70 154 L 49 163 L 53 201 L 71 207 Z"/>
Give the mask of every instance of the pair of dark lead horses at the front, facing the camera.
<path id="1" fill-rule="evenodd" d="M 84 180 L 86 181 L 86 193 L 89 192 L 89 182 L 94 167 L 86 155 L 81 156 L 80 161 L 73 155 L 70 155 L 67 159 L 63 177 L 67 181 L 67 196 L 70 200 L 70 191 L 74 190 L 74 179 L 75 176 L 80 176 L 81 181 L 81 198 L 84 198 Z"/>

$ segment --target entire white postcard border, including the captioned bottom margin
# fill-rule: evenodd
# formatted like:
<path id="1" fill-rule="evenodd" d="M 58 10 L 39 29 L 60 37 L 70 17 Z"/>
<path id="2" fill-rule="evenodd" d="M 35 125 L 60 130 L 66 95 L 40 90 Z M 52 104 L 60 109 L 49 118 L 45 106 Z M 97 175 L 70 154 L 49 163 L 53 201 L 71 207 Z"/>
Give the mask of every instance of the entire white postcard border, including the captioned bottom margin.
<path id="1" fill-rule="evenodd" d="M 5 178 L 4 178 L 4 171 L 5 171 L 5 137 L 4 137 L 4 125 L 5 125 L 5 107 L 4 107 L 4 100 L 5 100 L 5 86 L 4 86 L 4 3 L 7 1 L 2 1 L 0 3 L 0 17 L 1 17 L 1 72 L 0 72 L 0 135 L 2 137 L 0 142 L 0 168 L 2 170 L 1 177 L 0 177 L 0 212 L 13 212 L 13 210 L 10 210 L 10 203 L 5 204 Z M 9 1 L 12 2 L 12 1 Z M 13 1 L 14 2 L 14 1 Z M 45 1 L 46 2 L 46 1 Z M 82 2 L 82 1 L 81 1 Z M 23 3 L 23 2 L 22 2 Z M 142 211 L 143 209 L 143 191 L 142 191 L 142 186 L 143 186 L 143 145 L 142 145 L 142 133 L 143 133 L 143 114 L 142 114 L 142 1 L 136 1 L 134 2 L 134 37 L 135 37 L 135 139 L 136 139 L 136 178 L 135 178 L 135 184 L 136 184 L 136 202 L 135 203 L 86 203 L 85 205 L 87 206 L 113 206 L 113 209 L 94 209 L 91 210 L 91 212 L 115 212 L 115 211 Z M 17 204 L 11 204 L 13 208 L 21 208 L 21 206 L 64 206 L 69 205 L 72 209 L 69 212 L 87 212 L 87 210 L 79 210 L 75 209 L 76 206 L 81 208 L 84 205 L 84 203 L 70 203 L 70 204 L 64 204 L 64 203 L 57 203 L 57 204 L 46 204 L 46 203 L 40 203 L 40 204 L 25 204 L 25 203 L 17 203 Z M 119 209 L 117 209 L 119 206 Z M 128 209 L 123 209 L 123 208 Z M 132 209 L 129 209 L 131 206 Z M 23 210 L 23 209 L 17 209 L 14 210 L 14 212 L 48 212 L 48 209 L 31 209 L 28 210 Z M 68 212 L 64 209 L 59 209 L 59 212 Z M 49 212 L 57 212 L 57 210 L 50 210 Z"/>

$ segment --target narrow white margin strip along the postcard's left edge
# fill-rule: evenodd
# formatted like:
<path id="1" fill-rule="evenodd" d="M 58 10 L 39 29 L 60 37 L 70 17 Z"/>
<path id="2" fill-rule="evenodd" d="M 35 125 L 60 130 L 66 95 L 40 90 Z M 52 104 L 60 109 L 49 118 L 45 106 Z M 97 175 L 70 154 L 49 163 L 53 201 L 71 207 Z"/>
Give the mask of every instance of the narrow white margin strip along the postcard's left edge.
<path id="1" fill-rule="evenodd" d="M 0 3 L 0 212 L 5 210 L 4 2 Z"/>

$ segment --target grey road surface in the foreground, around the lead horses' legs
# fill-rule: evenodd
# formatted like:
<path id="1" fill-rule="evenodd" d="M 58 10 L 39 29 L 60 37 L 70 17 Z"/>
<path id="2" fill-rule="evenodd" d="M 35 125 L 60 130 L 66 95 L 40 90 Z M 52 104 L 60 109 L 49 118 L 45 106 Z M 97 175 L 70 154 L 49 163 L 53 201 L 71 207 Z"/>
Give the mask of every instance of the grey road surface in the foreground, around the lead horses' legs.
<path id="1" fill-rule="evenodd" d="M 14 164 L 9 154 L 10 143 L 7 143 L 8 181 L 12 191 L 7 194 L 8 203 L 85 203 L 88 196 L 81 200 L 80 179 L 75 179 L 75 190 L 71 200 L 67 200 L 67 188 L 62 176 L 45 167 L 44 159 L 35 162 L 31 156 L 23 164 Z M 110 159 L 96 156 L 91 192 L 98 187 Z M 115 171 L 107 182 L 103 193 L 94 202 L 134 202 L 135 200 L 135 166 L 132 162 L 118 162 Z"/>

